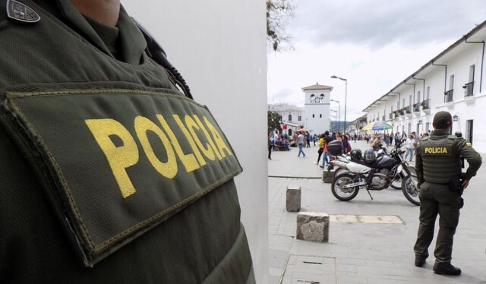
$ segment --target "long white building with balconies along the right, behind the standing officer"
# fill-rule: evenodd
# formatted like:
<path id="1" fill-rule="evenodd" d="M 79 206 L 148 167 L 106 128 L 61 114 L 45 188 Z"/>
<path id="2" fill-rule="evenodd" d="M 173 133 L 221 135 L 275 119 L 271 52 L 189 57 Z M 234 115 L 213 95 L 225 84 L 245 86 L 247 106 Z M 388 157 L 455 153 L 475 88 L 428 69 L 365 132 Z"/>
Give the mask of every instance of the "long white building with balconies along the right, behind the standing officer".
<path id="1" fill-rule="evenodd" d="M 486 152 L 485 40 L 486 21 L 366 107 L 367 122 L 391 124 L 388 133 L 423 133 L 433 130 L 436 112 L 449 111 L 452 133 Z"/>

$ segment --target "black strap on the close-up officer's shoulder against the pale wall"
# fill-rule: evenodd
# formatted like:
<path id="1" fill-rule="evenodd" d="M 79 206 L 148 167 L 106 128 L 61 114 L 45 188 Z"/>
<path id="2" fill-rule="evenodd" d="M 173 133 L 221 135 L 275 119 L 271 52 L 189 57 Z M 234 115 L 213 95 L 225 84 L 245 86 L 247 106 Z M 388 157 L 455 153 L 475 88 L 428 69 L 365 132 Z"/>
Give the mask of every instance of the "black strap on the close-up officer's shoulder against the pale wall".
<path id="1" fill-rule="evenodd" d="M 187 98 L 192 99 L 192 94 L 190 93 L 190 89 L 186 83 L 186 80 L 184 80 L 181 73 L 179 73 L 179 71 L 177 71 L 177 69 L 172 66 L 172 64 L 170 64 L 169 60 L 167 60 L 167 54 L 165 53 L 164 49 L 160 46 L 160 44 L 158 44 L 158 42 L 149 33 L 149 31 L 147 31 L 147 29 L 142 26 L 142 24 L 140 24 L 134 18 L 132 19 L 144 35 L 145 40 L 147 41 L 147 51 L 150 58 L 160 64 L 167 71 L 169 71 L 176 85 L 178 85 L 184 92 L 184 95 L 186 95 Z"/>

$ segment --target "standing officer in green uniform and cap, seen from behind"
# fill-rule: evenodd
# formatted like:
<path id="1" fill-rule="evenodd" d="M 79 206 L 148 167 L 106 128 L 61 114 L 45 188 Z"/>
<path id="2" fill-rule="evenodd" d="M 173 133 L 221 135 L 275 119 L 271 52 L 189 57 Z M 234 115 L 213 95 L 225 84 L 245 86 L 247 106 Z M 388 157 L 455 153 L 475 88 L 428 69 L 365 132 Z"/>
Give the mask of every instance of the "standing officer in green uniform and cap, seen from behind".
<path id="1" fill-rule="evenodd" d="M 461 198 L 469 180 L 476 175 L 482 160 L 471 143 L 449 135 L 452 118 L 447 111 L 434 116 L 434 132 L 420 141 L 416 154 L 416 173 L 420 186 L 420 224 L 414 246 L 415 266 L 422 267 L 429 256 L 428 247 L 434 237 L 434 224 L 439 214 L 439 234 L 434 251 L 434 273 L 460 275 L 450 264 L 452 242 L 459 222 Z M 461 178 L 461 157 L 469 167 Z"/>

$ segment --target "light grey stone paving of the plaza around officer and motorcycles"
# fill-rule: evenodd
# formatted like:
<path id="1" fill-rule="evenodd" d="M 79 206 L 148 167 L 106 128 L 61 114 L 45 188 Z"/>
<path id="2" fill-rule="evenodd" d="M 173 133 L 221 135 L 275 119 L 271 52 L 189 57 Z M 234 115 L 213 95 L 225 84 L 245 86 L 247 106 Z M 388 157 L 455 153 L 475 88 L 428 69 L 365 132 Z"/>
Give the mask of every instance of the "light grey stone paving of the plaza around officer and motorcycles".
<path id="1" fill-rule="evenodd" d="M 367 148 L 364 142 L 351 142 L 351 146 Z M 374 200 L 363 191 L 352 201 L 338 201 L 314 164 L 317 147 L 306 148 L 305 159 L 298 159 L 296 153 L 295 148 L 275 152 L 268 161 L 269 176 L 293 177 L 268 179 L 269 284 L 486 283 L 486 167 L 464 192 L 452 252 L 452 264 L 463 273 L 450 277 L 432 272 L 435 239 L 426 264 L 414 266 L 419 208 L 400 190 L 376 192 Z M 288 185 L 301 187 L 300 213 L 330 215 L 329 243 L 297 240 L 298 213 L 286 211 Z M 313 260 L 307 261 L 308 257 Z"/>

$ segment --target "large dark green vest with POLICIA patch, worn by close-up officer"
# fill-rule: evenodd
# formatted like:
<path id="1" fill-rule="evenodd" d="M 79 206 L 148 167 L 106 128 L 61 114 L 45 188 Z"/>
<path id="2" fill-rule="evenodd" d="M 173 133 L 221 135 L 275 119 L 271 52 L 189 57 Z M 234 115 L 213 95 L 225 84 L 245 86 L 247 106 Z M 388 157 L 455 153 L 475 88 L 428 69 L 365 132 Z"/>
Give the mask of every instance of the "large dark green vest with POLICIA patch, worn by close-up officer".
<path id="1" fill-rule="evenodd" d="M 241 166 L 208 108 L 147 54 L 117 61 L 31 1 L 39 22 L 7 20 L 5 2 L 0 283 L 254 283 Z"/>

